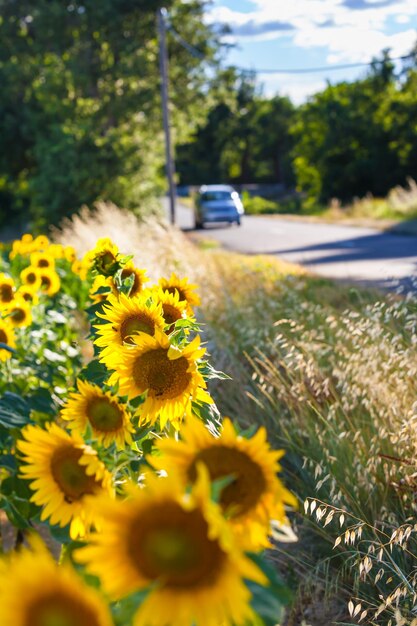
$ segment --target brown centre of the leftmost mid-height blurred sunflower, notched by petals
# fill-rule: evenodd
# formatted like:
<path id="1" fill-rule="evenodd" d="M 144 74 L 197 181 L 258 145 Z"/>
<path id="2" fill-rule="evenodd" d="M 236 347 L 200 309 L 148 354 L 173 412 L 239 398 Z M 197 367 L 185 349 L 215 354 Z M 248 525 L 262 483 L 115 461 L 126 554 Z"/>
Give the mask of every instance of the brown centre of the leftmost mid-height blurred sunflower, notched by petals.
<path id="1" fill-rule="evenodd" d="M 68 503 L 94 494 L 100 486 L 94 476 L 87 475 L 85 466 L 80 465 L 81 456 L 82 450 L 73 446 L 58 448 L 52 455 L 51 473 Z"/>

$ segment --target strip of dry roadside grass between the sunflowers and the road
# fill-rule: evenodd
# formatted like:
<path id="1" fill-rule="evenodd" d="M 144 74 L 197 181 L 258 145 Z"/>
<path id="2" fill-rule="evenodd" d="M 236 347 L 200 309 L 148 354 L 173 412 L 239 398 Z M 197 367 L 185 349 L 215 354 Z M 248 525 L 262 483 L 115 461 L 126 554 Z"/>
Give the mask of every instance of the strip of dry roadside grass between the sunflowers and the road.
<path id="1" fill-rule="evenodd" d="M 352 596 L 352 617 L 340 623 L 357 623 L 365 610 L 361 623 L 411 623 L 415 298 L 336 286 L 272 257 L 203 251 L 177 229 L 138 224 L 114 206 L 85 211 L 56 236 L 81 253 L 110 236 L 153 278 L 176 271 L 200 285 L 211 360 L 233 378 L 212 388 L 219 407 L 242 425 L 267 426 L 287 450 L 290 487 L 309 502 L 294 517 L 298 546 L 274 556 L 294 584 L 301 579 L 288 624 L 331 624 L 324 604 L 340 618 Z"/>

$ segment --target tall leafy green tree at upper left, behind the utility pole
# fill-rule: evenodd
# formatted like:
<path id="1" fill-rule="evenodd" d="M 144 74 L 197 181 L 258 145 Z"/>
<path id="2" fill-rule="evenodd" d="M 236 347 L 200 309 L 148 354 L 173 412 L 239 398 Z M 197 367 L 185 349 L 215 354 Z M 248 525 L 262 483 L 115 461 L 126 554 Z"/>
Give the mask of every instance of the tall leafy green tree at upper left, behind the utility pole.
<path id="1" fill-rule="evenodd" d="M 208 58 L 204 2 L 0 0 L 0 226 L 39 229 L 97 200 L 143 214 L 162 189 L 156 9 Z M 171 46 L 172 44 L 172 46 Z M 178 132 L 201 109 L 202 61 L 170 42 Z M 197 116 L 198 117 L 198 116 Z"/>

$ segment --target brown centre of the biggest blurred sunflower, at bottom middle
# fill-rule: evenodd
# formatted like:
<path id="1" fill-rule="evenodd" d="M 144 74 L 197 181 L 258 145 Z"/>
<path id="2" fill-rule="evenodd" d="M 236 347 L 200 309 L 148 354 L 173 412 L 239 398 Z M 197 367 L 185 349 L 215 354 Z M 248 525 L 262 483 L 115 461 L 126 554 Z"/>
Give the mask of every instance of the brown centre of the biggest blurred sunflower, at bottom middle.
<path id="1" fill-rule="evenodd" d="M 173 501 L 141 512 L 128 530 L 128 550 L 142 575 L 178 589 L 213 584 L 225 557 L 202 512 Z"/>

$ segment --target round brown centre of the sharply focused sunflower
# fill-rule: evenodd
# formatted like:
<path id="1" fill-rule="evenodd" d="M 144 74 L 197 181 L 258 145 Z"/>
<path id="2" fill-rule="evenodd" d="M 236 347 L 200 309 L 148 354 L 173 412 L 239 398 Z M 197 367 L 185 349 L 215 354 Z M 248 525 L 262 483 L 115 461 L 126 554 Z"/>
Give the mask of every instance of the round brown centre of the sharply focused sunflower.
<path id="1" fill-rule="evenodd" d="M 168 350 L 157 348 L 139 356 L 133 366 L 133 379 L 139 389 L 159 400 L 180 396 L 191 381 L 188 361 L 181 356 L 168 358 Z"/>

